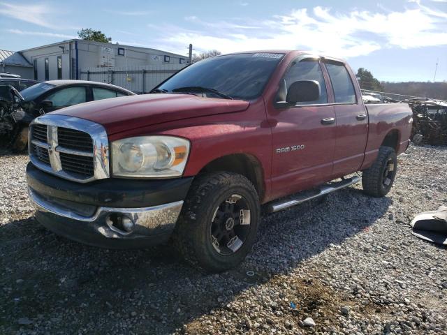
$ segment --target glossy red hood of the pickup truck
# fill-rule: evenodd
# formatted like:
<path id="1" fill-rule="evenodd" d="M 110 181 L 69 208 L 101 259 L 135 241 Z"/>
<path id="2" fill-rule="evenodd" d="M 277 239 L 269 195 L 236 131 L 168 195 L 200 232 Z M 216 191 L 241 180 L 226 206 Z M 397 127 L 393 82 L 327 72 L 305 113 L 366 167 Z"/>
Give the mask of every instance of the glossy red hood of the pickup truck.
<path id="1" fill-rule="evenodd" d="M 191 94 L 142 94 L 66 107 L 49 114 L 68 115 L 104 126 L 108 135 L 142 126 L 213 114 L 242 112 L 249 102 Z"/>

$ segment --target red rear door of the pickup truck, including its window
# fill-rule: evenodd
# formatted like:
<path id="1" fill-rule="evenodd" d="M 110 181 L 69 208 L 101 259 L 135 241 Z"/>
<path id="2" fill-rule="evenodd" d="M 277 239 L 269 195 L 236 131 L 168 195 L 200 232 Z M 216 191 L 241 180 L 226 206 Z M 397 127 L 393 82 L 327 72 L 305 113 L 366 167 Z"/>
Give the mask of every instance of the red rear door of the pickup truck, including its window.
<path id="1" fill-rule="evenodd" d="M 337 119 L 333 174 L 340 177 L 360 170 L 365 156 L 368 117 L 345 64 L 325 60 L 325 67 L 332 84 Z"/>

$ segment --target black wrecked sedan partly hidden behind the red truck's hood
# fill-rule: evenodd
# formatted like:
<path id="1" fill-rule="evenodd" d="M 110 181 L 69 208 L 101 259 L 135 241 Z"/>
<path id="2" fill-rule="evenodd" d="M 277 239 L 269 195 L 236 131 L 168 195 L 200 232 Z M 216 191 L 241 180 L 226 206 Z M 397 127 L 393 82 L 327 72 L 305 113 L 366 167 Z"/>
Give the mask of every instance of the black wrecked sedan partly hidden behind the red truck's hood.
<path id="1" fill-rule="evenodd" d="M 23 151 L 28 143 L 28 126 L 36 117 L 89 101 L 134 96 L 122 87 L 103 82 L 50 80 L 24 89 L 0 86 L 1 144 Z"/>

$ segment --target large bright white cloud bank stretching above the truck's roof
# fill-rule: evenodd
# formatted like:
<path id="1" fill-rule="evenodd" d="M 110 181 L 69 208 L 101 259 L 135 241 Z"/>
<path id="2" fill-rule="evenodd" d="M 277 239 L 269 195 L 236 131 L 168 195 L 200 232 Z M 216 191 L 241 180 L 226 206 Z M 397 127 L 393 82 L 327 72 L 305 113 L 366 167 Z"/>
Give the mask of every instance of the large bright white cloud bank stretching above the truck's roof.
<path id="1" fill-rule="evenodd" d="M 223 53 L 259 49 L 306 49 L 337 57 L 356 57 L 383 48 L 447 45 L 447 13 L 410 3 L 401 11 L 298 8 L 268 20 L 203 21 L 185 17 L 196 29 L 160 26 L 158 42 L 170 50 L 193 43 L 196 50 Z M 191 27 L 191 25 L 189 26 Z M 159 46 L 160 47 L 160 46 Z"/>

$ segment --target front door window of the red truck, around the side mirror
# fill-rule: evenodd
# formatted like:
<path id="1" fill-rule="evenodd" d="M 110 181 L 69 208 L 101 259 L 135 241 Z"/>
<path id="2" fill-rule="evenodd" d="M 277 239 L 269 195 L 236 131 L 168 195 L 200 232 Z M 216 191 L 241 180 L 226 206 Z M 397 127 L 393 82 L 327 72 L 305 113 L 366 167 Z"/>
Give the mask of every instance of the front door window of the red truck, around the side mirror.
<path id="1" fill-rule="evenodd" d="M 323 77 L 323 71 L 318 61 L 314 59 L 304 59 L 302 61 L 293 61 L 292 66 L 287 70 L 286 75 L 281 80 L 277 98 L 275 101 L 286 101 L 288 88 L 293 82 L 298 80 L 316 80 L 320 84 L 321 95 L 317 101 L 307 101 L 297 103 L 296 105 L 314 105 L 319 103 L 328 103 L 328 94 Z"/>

